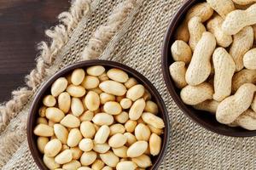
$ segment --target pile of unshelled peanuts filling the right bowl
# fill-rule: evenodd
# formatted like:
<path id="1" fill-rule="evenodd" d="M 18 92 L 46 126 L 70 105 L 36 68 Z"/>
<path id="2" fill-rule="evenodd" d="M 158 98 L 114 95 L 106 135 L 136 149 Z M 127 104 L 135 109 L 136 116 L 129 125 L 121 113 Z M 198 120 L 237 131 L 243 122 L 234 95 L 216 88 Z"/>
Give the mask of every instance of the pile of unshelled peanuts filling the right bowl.
<path id="1" fill-rule="evenodd" d="M 169 70 L 183 103 L 256 130 L 255 0 L 207 0 L 175 33 Z"/>

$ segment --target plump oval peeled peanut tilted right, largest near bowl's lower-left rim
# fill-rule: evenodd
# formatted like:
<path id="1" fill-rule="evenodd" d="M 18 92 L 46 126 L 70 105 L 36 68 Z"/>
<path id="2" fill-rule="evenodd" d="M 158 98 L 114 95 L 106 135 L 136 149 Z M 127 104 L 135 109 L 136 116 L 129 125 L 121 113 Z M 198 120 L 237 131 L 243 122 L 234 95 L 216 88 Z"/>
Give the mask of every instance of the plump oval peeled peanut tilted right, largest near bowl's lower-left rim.
<path id="1" fill-rule="evenodd" d="M 52 139 L 44 147 L 44 155 L 53 157 L 56 156 L 62 148 L 61 140 Z"/>

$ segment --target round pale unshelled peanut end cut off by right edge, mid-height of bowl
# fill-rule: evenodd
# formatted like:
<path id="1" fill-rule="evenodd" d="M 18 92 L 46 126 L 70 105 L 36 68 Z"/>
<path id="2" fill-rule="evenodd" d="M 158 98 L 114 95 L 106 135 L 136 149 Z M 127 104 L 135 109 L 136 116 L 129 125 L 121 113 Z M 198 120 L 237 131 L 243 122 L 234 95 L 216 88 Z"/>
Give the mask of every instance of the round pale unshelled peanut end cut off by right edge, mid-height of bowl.
<path id="1" fill-rule="evenodd" d="M 249 70 L 256 69 L 256 48 L 247 51 L 243 56 L 243 65 Z"/>

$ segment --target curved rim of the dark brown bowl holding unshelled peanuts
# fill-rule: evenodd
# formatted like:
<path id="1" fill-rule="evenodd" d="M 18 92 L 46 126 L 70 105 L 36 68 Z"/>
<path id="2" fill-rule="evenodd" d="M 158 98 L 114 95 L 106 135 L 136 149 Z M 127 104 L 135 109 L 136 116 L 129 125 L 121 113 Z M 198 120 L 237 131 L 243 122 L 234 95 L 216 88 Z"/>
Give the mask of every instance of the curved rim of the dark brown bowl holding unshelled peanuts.
<path id="1" fill-rule="evenodd" d="M 175 85 L 172 82 L 172 77 L 170 76 L 169 73 L 169 65 L 168 65 L 168 51 L 171 50 L 169 49 L 170 43 L 172 42 L 172 34 L 174 30 L 177 28 L 177 24 L 182 20 L 184 14 L 191 8 L 191 6 L 195 3 L 201 3 L 202 0 L 186 0 L 180 8 L 178 8 L 176 14 L 172 17 L 172 20 L 169 22 L 165 36 L 163 38 L 163 43 L 162 43 L 162 49 L 161 49 L 161 70 L 163 73 L 164 80 L 166 82 L 166 88 L 168 89 L 169 93 L 172 96 L 172 99 L 175 101 L 177 104 L 178 108 L 183 111 L 183 113 L 189 117 L 193 122 L 195 122 L 197 125 L 200 125 L 200 127 L 204 127 L 207 130 L 213 132 L 213 133 L 218 133 L 224 136 L 230 136 L 230 137 L 253 137 L 256 135 L 256 131 L 247 131 L 245 130 L 244 132 L 235 132 L 235 131 L 227 131 L 222 128 L 214 128 L 210 126 L 207 122 L 204 122 L 201 120 L 201 118 L 195 116 L 195 114 L 191 113 L 189 107 L 185 105 L 180 99 L 179 94 L 175 90 Z M 169 56 L 170 57 L 170 56 Z M 207 111 L 204 111 L 207 112 Z M 209 113 L 207 113 L 209 114 Z M 235 128 L 235 127 L 233 127 Z M 240 128 L 240 127 L 239 127 Z"/>

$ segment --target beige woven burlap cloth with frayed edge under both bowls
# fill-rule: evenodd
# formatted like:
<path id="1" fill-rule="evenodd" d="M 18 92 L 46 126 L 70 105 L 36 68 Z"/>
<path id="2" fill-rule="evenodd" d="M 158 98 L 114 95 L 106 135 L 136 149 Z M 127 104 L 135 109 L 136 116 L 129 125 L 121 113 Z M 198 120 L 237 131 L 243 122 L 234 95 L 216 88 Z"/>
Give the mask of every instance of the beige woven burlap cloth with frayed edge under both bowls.
<path id="1" fill-rule="evenodd" d="M 65 15 L 64 26 L 46 32 L 52 38 L 51 45 L 40 46 L 44 60 L 41 63 L 48 61 L 48 64 L 45 68 L 38 64 L 37 71 L 28 77 L 29 88 L 14 93 L 14 99 L 15 95 L 21 96 L 16 102 L 22 107 L 10 107 L 7 103 L 0 110 L 3 121 L 0 168 L 38 169 L 26 143 L 26 116 L 33 94 L 63 66 L 99 57 L 140 71 L 165 100 L 172 135 L 160 169 L 256 169 L 255 138 L 230 138 L 208 132 L 184 116 L 168 94 L 161 74 L 160 51 L 166 26 L 182 3 L 181 0 L 74 2 L 71 12 L 61 15 Z M 50 57 L 47 60 L 45 56 Z"/>

